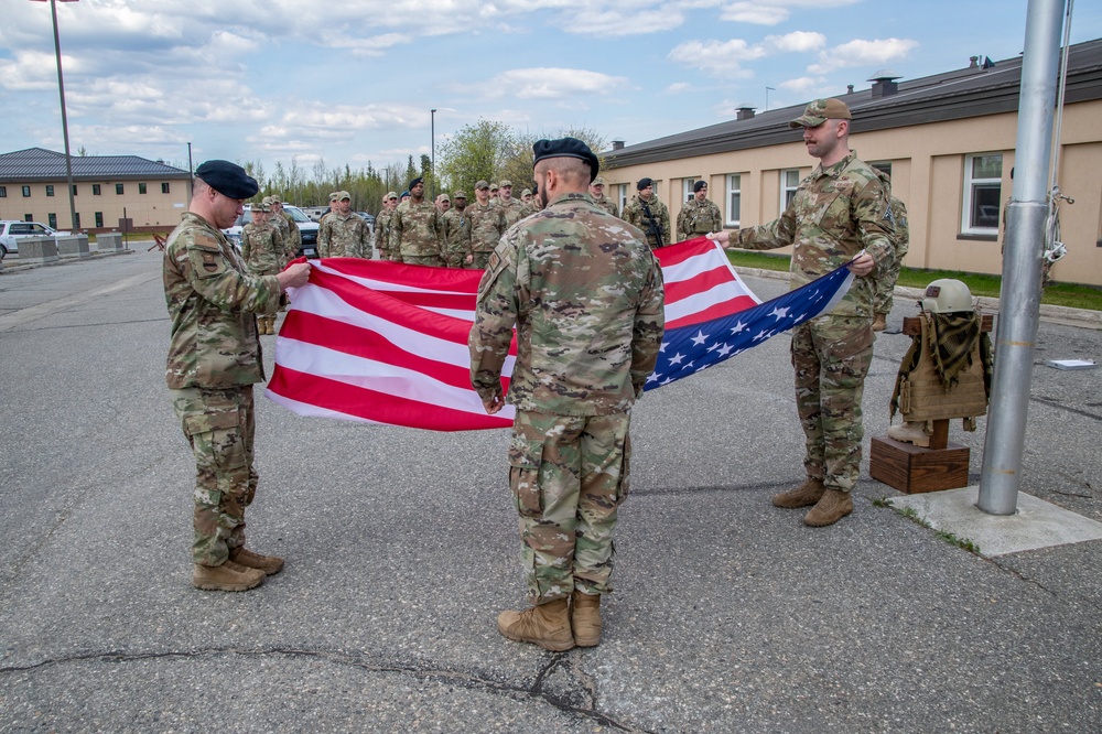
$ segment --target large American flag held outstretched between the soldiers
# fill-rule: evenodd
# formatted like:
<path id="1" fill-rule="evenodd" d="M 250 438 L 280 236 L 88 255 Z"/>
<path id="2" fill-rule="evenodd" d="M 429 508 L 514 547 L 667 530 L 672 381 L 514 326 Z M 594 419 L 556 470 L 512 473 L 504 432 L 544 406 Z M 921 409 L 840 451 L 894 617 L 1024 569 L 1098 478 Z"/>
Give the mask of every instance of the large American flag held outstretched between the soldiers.
<path id="1" fill-rule="evenodd" d="M 667 336 L 648 389 L 728 358 L 745 344 L 768 338 L 759 335 L 771 336 L 798 323 L 797 312 L 810 319 L 841 298 L 832 301 L 825 290 L 817 291 L 812 300 L 824 307 L 781 304 L 779 309 L 788 310 L 767 311 L 754 317 L 754 325 L 747 315 L 737 332 L 731 330 L 739 322 L 731 321 L 724 326 L 726 337 L 719 324 L 791 300 L 809 287 L 761 304 L 711 240 L 701 237 L 656 255 L 666 280 Z M 269 399 L 302 415 L 435 431 L 512 424 L 511 406 L 487 415 L 471 387 L 467 333 L 480 270 L 357 258 L 312 265 L 310 283 L 292 293 L 276 342 Z M 750 333 L 735 338 L 744 332 Z M 510 354 L 516 354 L 515 346 Z M 506 388 L 512 359 L 505 364 Z"/>

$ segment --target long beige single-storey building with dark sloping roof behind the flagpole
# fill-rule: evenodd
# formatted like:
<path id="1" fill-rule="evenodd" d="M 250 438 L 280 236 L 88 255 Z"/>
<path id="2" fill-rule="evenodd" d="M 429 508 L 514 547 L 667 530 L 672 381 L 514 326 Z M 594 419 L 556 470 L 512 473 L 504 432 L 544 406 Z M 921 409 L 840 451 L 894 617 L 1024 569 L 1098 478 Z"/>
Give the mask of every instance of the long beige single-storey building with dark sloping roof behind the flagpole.
<path id="1" fill-rule="evenodd" d="M 1060 140 L 1065 282 L 1102 285 L 1102 40 L 1071 47 Z M 871 89 L 840 95 L 853 112 L 850 147 L 892 176 L 907 204 L 912 268 L 1001 273 L 1003 208 L 1012 191 L 1022 58 L 979 63 L 898 82 L 877 73 Z M 777 218 L 818 161 L 789 120 L 803 105 L 670 136 L 603 155 L 602 174 L 623 205 L 642 177 L 676 218 L 698 180 L 709 184 L 726 227 Z M 1040 245 L 1038 245 L 1038 248 Z M 790 248 L 777 250 L 790 252 Z"/>

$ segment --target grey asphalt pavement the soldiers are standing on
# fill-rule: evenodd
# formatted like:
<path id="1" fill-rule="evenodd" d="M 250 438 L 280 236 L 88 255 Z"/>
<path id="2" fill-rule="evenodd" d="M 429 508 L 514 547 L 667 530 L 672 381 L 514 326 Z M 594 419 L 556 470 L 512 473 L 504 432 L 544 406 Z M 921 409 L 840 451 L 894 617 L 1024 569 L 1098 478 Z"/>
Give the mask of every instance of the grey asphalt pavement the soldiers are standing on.
<path id="1" fill-rule="evenodd" d="M 1076 323 L 1040 326 L 1023 490 L 1102 521 L 1102 371 L 1044 364 L 1102 357 Z M 907 336 L 830 528 L 769 504 L 802 478 L 787 337 L 647 393 L 603 640 L 552 654 L 495 627 L 525 604 L 506 431 L 259 399 L 249 544 L 287 568 L 192 589 L 168 335 L 156 251 L 0 273 L 2 732 L 1102 731 L 1102 541 L 976 554 L 868 476 Z M 973 483 L 985 423 L 951 430 Z"/>

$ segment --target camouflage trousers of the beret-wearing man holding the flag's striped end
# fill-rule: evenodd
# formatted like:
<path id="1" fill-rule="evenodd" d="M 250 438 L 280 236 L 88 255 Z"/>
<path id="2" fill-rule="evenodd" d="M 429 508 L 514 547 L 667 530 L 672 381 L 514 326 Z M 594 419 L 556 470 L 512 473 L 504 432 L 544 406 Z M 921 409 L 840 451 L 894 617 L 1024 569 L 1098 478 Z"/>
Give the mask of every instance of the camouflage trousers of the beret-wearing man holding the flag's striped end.
<path id="1" fill-rule="evenodd" d="M 195 454 L 192 559 L 202 565 L 222 565 L 230 549 L 245 544 L 245 508 L 257 492 L 252 386 L 170 392 Z"/>

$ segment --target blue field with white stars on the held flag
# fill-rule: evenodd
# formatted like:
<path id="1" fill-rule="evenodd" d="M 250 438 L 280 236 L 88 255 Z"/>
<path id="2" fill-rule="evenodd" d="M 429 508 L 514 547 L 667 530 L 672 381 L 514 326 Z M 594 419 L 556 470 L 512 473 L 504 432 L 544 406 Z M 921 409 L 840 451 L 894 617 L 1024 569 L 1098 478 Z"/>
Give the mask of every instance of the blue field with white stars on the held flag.
<path id="1" fill-rule="evenodd" d="M 666 332 L 647 390 L 689 377 L 742 354 L 834 307 L 853 274 L 845 266 L 795 291 L 745 311 Z"/>

